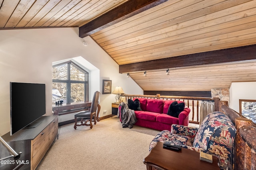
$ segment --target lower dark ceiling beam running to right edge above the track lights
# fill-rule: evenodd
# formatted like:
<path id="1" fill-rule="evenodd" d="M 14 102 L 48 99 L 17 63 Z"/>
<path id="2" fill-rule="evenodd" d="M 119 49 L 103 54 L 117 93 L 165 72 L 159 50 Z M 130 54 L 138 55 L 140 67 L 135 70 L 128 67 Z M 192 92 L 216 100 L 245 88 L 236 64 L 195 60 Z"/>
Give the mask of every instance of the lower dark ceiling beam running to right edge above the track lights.
<path id="1" fill-rule="evenodd" d="M 123 64 L 119 65 L 119 73 L 248 61 L 255 60 L 255 54 L 256 45 L 248 45 L 230 49 L 169 57 L 165 59 L 143 61 L 139 63 Z"/>

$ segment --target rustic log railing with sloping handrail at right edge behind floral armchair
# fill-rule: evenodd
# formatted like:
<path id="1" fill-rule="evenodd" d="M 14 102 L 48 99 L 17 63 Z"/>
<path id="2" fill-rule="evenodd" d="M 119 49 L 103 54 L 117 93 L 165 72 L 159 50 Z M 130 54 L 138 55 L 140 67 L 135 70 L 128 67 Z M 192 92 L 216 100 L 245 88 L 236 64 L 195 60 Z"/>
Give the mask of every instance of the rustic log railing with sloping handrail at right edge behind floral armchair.
<path id="1" fill-rule="evenodd" d="M 222 101 L 220 111 L 226 113 L 236 127 L 234 170 L 255 170 L 256 167 L 256 124 L 237 113 Z"/>

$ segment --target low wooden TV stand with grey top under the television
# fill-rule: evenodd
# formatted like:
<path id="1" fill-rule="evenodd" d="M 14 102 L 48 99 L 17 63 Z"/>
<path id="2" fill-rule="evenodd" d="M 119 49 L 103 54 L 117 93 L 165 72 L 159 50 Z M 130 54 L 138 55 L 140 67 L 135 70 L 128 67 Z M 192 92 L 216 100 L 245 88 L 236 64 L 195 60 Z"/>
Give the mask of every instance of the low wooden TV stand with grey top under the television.
<path id="1" fill-rule="evenodd" d="M 22 129 L 12 136 L 10 132 L 2 136 L 12 149 L 17 153 L 22 152 L 17 160 L 22 164 L 20 170 L 36 169 L 58 136 L 58 115 L 42 116 L 37 121 L 42 121 L 37 127 Z M 1 158 L 10 155 L 4 147 L 0 146 L 0 149 Z M 18 166 L 14 158 L 6 159 L 6 163 L 9 164 L 0 164 L 0 170 L 14 169 Z"/>

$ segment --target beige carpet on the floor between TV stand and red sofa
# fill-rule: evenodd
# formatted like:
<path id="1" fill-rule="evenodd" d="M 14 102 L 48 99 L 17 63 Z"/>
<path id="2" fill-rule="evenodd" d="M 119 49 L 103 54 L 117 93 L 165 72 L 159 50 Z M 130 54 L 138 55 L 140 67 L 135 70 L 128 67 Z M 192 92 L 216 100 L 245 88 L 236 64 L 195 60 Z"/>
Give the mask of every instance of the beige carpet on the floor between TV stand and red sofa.
<path id="1" fill-rule="evenodd" d="M 146 170 L 143 159 L 159 132 L 135 125 L 122 128 L 117 117 L 99 121 L 92 129 L 64 125 L 38 170 Z"/>

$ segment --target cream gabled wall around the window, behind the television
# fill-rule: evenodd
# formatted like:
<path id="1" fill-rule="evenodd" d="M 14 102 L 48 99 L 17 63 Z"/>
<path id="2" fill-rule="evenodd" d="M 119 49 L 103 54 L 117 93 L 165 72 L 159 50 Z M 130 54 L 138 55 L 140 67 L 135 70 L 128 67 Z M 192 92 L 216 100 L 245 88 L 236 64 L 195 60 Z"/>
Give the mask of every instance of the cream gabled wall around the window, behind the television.
<path id="1" fill-rule="evenodd" d="M 101 93 L 102 80 L 107 79 L 112 80 L 112 91 L 122 86 L 126 94 L 143 94 L 131 78 L 118 73 L 118 64 L 91 37 L 78 36 L 78 28 L 0 30 L 0 135 L 10 131 L 10 82 L 46 84 L 46 115 L 51 115 L 52 63 L 78 56 L 100 70 L 96 88 Z M 111 114 L 114 96 L 101 94 L 100 117 Z"/>

